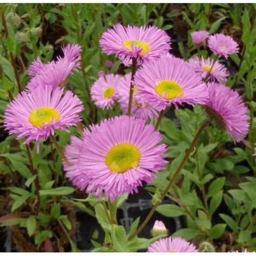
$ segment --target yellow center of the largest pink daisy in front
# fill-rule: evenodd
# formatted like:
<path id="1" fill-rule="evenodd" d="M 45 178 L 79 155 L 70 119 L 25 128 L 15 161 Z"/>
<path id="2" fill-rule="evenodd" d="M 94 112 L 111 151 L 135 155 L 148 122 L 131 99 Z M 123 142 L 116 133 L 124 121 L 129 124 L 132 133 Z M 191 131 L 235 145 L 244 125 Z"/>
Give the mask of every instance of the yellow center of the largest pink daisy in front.
<path id="1" fill-rule="evenodd" d="M 107 153 L 105 163 L 112 172 L 123 173 L 139 165 L 140 151 L 129 143 L 113 146 Z"/>

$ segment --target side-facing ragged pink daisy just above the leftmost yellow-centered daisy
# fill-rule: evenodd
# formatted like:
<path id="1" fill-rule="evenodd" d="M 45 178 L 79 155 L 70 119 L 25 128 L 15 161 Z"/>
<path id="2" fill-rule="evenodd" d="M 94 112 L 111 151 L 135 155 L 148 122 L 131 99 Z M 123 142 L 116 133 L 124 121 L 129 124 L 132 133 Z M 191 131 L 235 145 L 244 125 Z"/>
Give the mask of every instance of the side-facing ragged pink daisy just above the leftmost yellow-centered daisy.
<path id="1" fill-rule="evenodd" d="M 73 70 L 80 68 L 81 48 L 79 45 L 67 44 L 62 48 L 64 57 L 58 57 L 57 61 L 43 64 L 37 58 L 29 67 L 29 75 L 32 77 L 26 87 L 32 90 L 38 86 L 66 86 L 67 78 Z"/>

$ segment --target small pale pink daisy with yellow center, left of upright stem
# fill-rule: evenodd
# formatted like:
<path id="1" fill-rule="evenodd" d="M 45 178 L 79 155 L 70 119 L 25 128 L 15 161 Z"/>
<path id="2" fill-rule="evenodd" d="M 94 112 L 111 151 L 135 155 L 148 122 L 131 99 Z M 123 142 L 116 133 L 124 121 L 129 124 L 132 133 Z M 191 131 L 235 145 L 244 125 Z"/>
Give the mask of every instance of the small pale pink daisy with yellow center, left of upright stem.
<path id="1" fill-rule="evenodd" d="M 121 77 L 108 74 L 99 77 L 91 87 L 91 97 L 96 106 L 102 109 L 110 109 L 117 99 L 117 87 Z"/>

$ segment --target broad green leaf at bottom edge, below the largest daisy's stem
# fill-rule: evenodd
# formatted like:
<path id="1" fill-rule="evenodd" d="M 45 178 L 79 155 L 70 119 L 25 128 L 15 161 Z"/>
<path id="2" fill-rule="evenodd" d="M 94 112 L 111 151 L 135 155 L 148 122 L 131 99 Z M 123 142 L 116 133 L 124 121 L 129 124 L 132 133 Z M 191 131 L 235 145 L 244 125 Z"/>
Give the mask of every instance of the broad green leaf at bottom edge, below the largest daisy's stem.
<path id="1" fill-rule="evenodd" d="M 127 252 L 127 235 L 123 226 L 111 226 L 113 247 L 117 252 Z"/>

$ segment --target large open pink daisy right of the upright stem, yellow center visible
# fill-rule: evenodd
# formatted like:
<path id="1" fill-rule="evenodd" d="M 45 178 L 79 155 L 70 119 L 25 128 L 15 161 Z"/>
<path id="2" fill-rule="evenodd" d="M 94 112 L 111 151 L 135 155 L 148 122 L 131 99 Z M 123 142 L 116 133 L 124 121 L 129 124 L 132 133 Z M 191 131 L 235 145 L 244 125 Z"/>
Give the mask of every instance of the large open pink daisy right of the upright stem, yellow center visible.
<path id="1" fill-rule="evenodd" d="M 164 110 L 173 104 L 204 104 L 208 94 L 205 84 L 188 63 L 166 55 L 146 63 L 136 72 L 134 85 L 139 98 L 154 108 Z"/>

